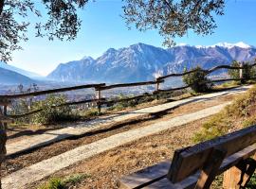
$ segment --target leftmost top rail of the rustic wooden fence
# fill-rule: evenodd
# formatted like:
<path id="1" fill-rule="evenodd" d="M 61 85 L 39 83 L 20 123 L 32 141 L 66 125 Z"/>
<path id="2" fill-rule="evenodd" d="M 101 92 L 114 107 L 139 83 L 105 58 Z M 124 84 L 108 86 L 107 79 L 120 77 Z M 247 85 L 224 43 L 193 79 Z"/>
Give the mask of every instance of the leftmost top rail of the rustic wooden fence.
<path id="1" fill-rule="evenodd" d="M 105 83 L 79 85 L 74 87 L 64 87 L 64 88 L 51 89 L 51 90 L 45 90 L 45 91 L 39 91 L 39 92 L 32 92 L 27 94 L 6 94 L 6 95 L 0 95 L 0 98 L 12 99 L 12 98 L 36 96 L 36 95 L 42 95 L 42 94 L 55 94 L 55 93 L 61 93 L 61 92 L 79 90 L 79 89 L 89 89 L 89 88 L 95 88 L 95 87 L 101 87 L 101 86 L 105 86 Z"/>

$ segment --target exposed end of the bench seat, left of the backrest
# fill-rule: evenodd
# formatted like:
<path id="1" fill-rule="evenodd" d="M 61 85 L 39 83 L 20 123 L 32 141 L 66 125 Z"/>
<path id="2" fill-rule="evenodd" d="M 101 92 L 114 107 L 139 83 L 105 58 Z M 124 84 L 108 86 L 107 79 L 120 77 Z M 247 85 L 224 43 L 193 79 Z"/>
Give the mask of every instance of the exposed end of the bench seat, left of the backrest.
<path id="1" fill-rule="evenodd" d="M 120 188 L 140 188 L 166 177 L 171 161 L 149 166 L 119 180 Z"/>

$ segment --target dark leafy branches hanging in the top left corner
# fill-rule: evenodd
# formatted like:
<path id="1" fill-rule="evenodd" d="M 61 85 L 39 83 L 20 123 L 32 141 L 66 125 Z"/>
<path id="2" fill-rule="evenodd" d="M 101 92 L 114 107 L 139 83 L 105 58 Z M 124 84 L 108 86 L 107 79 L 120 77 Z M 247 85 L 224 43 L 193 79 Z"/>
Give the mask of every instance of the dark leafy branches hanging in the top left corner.
<path id="1" fill-rule="evenodd" d="M 88 0 L 42 0 L 46 15 L 36 8 L 32 0 L 0 0 L 0 60 L 11 60 L 11 53 L 21 49 L 20 42 L 27 41 L 30 25 L 27 16 L 31 13 L 46 21 L 34 25 L 37 37 L 48 40 L 73 40 L 81 26 L 77 10 Z M 29 27 L 30 28 L 30 27 Z"/>

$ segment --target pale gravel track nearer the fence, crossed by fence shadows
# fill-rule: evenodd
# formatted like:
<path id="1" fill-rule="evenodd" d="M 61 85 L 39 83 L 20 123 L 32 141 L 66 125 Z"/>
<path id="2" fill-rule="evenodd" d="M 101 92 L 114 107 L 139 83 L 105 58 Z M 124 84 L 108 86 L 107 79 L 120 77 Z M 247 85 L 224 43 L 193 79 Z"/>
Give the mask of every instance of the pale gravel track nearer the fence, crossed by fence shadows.
<path id="1" fill-rule="evenodd" d="M 45 146 L 54 142 L 64 140 L 65 138 L 68 138 L 70 136 L 74 136 L 74 135 L 79 136 L 90 131 L 91 129 L 98 129 L 98 128 L 101 128 L 102 126 L 115 124 L 122 121 L 128 121 L 131 119 L 136 119 L 140 116 L 145 116 L 151 113 L 164 112 L 170 109 L 174 109 L 175 107 L 181 106 L 186 103 L 206 101 L 206 100 L 210 100 L 210 98 L 218 97 L 226 94 L 244 93 L 245 91 L 247 91 L 249 87 L 250 86 L 243 86 L 243 87 L 227 90 L 224 92 L 193 96 L 187 99 L 169 102 L 169 103 L 157 105 L 154 107 L 140 109 L 137 111 L 124 112 L 118 115 L 115 114 L 115 115 L 107 115 L 104 117 L 99 117 L 92 121 L 76 123 L 72 127 L 68 127 L 64 129 L 46 131 L 44 134 L 33 135 L 19 142 L 15 142 L 15 143 L 13 142 L 10 144 L 8 143 L 7 155 L 26 151 L 28 149 L 32 149 L 38 146 Z"/>

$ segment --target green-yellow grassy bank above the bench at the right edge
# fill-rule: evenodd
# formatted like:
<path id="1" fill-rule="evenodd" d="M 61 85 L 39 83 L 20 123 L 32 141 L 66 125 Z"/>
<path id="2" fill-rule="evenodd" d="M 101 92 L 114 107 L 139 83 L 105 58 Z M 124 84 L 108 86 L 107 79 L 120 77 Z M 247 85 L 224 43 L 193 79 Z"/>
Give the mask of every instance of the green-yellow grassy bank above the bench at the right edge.
<path id="1" fill-rule="evenodd" d="M 202 129 L 195 133 L 193 141 L 195 143 L 206 141 L 254 124 L 256 124 L 256 86 L 237 97 L 222 112 L 215 114 L 210 121 L 204 123 Z"/>

